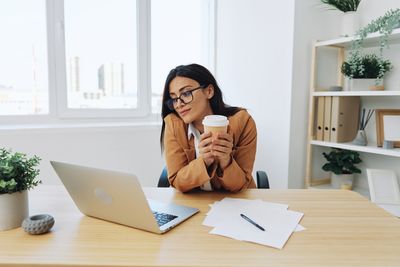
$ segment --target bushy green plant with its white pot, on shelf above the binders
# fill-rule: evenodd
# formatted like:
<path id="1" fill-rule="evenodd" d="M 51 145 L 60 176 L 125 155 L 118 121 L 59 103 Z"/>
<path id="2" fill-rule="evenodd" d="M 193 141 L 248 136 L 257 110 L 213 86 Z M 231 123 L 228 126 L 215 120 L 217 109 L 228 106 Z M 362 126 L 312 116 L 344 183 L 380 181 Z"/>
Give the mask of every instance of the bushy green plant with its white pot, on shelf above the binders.
<path id="1" fill-rule="evenodd" d="M 343 62 L 341 71 L 348 78 L 350 90 L 383 90 L 383 76 L 392 68 L 389 60 L 375 54 L 350 57 Z"/>

